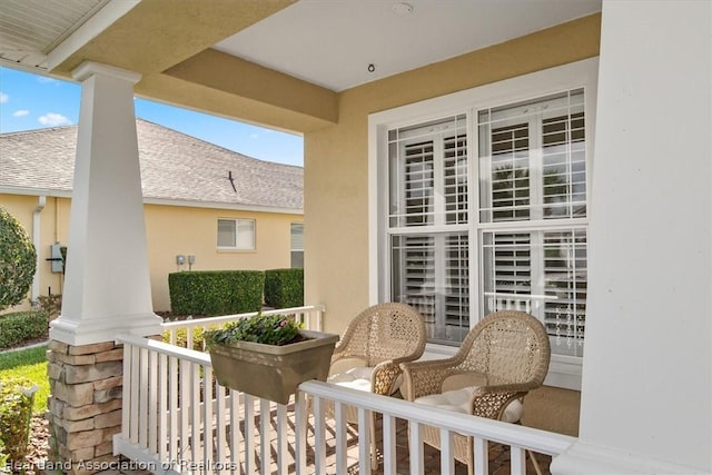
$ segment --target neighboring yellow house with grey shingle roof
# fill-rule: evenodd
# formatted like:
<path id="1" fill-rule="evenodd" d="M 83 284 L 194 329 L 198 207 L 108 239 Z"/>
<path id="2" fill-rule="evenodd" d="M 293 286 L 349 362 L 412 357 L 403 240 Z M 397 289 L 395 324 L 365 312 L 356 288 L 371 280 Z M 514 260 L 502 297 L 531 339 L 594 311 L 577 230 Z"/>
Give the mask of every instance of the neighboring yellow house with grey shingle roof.
<path id="1" fill-rule="evenodd" d="M 257 160 L 142 119 L 136 126 L 156 311 L 170 309 L 169 273 L 303 266 L 300 167 Z M 59 257 L 60 246 L 71 253 L 76 147 L 76 126 L 0 135 L 0 205 L 22 222 L 38 251 L 31 299 L 63 290 L 61 261 L 48 259 Z M 107 263 L 121 261 L 122 253 L 106 249 Z"/>

